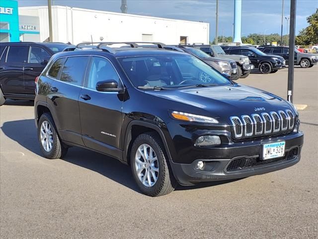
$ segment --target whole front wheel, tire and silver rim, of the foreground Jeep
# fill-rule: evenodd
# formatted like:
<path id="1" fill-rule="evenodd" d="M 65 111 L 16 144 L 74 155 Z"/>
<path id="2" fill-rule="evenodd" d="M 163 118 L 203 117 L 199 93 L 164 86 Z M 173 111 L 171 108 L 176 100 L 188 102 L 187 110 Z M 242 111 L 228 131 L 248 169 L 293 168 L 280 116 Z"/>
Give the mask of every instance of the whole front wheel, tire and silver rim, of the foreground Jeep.
<path id="1" fill-rule="evenodd" d="M 177 183 L 159 135 L 154 132 L 139 135 L 130 158 L 132 174 L 144 194 L 157 197 L 174 190 Z"/>

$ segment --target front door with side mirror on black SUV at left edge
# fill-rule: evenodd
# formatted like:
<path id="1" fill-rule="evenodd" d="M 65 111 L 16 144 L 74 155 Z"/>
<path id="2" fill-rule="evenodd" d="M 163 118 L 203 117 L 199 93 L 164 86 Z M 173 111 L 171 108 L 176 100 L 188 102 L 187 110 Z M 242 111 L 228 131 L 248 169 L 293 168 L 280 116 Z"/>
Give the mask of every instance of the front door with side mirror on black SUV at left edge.
<path id="1" fill-rule="evenodd" d="M 25 94 L 34 95 L 34 80 L 45 68 L 44 59 L 51 55 L 42 47 L 30 46 L 28 60 L 24 65 L 24 89 Z"/>

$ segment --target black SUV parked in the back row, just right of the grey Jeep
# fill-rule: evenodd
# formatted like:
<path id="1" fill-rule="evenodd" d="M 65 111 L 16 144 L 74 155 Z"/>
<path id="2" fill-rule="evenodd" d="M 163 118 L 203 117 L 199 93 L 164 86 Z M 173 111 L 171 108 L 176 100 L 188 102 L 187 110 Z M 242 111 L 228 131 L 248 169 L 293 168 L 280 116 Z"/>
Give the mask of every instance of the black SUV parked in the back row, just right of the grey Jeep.
<path id="1" fill-rule="evenodd" d="M 277 55 L 268 55 L 254 47 L 237 47 L 225 50 L 230 55 L 248 56 L 255 70 L 263 74 L 275 73 L 286 67 L 283 57 Z"/>

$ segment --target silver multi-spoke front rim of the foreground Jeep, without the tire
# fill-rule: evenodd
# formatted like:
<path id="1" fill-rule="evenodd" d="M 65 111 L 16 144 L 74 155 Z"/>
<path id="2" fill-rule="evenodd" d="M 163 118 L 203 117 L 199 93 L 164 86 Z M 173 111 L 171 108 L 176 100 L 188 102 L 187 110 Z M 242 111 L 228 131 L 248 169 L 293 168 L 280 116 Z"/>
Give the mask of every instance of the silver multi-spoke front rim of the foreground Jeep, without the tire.
<path id="1" fill-rule="evenodd" d="M 139 180 L 146 186 L 156 184 L 159 175 L 159 163 L 155 150 L 149 144 L 138 147 L 135 155 L 135 166 Z"/>

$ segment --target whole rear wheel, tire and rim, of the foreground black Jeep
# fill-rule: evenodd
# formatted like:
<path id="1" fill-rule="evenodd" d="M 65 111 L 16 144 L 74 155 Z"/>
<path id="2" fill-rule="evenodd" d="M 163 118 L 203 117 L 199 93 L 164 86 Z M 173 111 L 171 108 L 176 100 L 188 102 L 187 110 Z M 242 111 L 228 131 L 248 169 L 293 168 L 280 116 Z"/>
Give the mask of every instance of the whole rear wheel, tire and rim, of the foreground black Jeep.
<path id="1" fill-rule="evenodd" d="M 68 148 L 61 143 L 54 120 L 49 113 L 44 113 L 38 123 L 40 148 L 46 158 L 56 159 L 66 155 Z"/>

